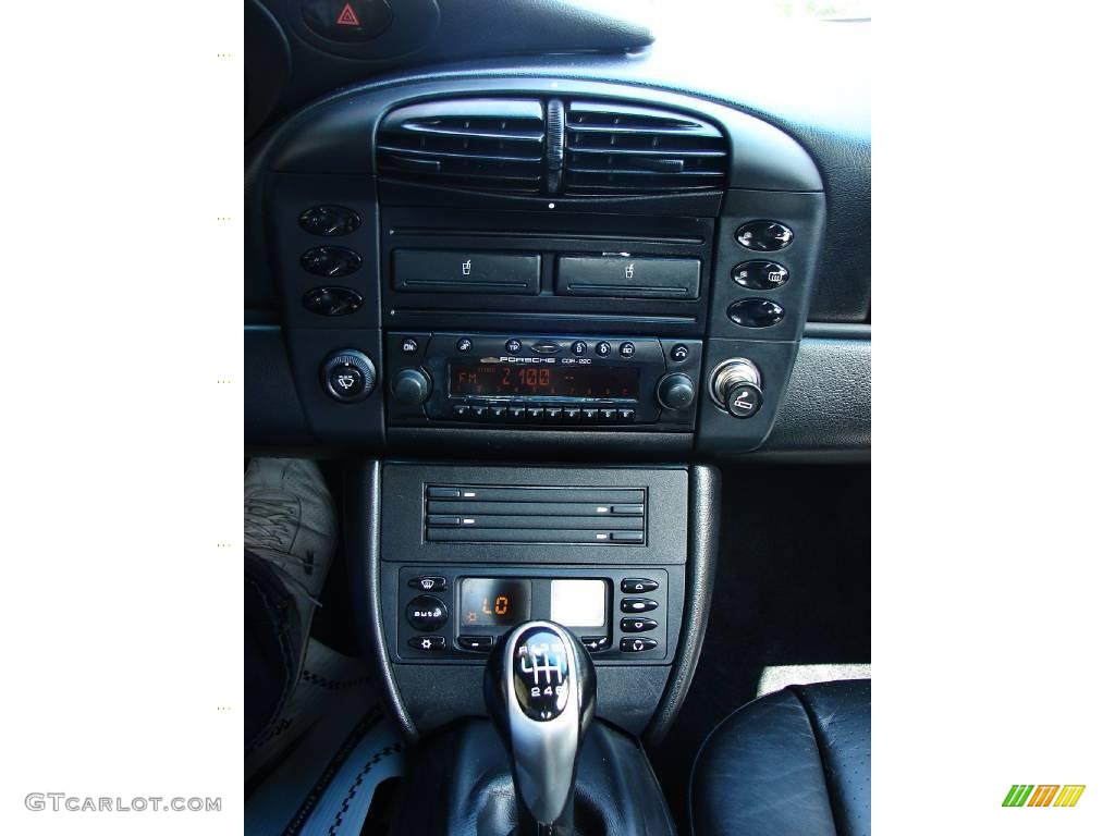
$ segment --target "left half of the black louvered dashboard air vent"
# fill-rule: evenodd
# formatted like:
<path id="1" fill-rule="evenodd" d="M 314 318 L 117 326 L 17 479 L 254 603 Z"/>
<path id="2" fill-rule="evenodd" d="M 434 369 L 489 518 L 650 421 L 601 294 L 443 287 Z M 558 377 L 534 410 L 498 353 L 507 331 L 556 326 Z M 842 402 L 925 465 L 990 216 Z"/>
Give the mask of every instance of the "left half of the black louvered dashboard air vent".
<path id="1" fill-rule="evenodd" d="M 380 176 L 477 192 L 541 194 L 542 103 L 450 99 L 400 107 L 379 127 Z"/>

